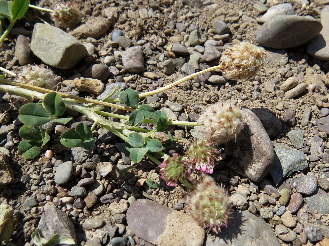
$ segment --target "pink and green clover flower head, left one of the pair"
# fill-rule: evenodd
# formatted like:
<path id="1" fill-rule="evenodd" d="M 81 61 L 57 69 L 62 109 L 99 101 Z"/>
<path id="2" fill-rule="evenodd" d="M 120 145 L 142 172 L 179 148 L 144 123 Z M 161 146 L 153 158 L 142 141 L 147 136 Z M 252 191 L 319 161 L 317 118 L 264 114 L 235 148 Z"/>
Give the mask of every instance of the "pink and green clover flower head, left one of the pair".
<path id="1" fill-rule="evenodd" d="M 168 186 L 175 186 L 179 180 L 186 180 L 191 174 L 190 160 L 187 156 L 166 156 L 160 167 L 161 178 Z"/>

